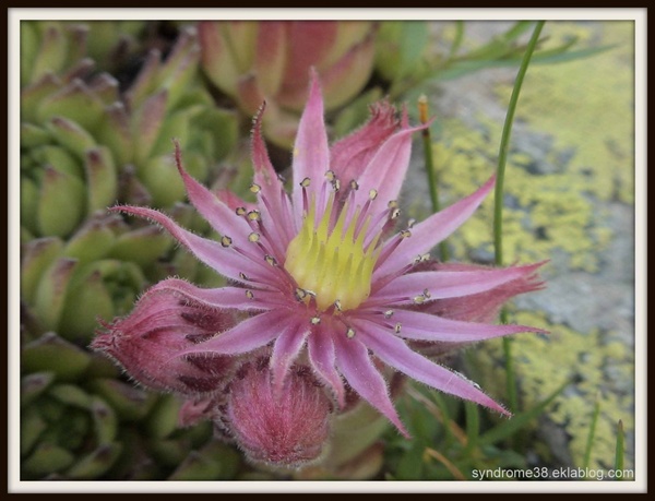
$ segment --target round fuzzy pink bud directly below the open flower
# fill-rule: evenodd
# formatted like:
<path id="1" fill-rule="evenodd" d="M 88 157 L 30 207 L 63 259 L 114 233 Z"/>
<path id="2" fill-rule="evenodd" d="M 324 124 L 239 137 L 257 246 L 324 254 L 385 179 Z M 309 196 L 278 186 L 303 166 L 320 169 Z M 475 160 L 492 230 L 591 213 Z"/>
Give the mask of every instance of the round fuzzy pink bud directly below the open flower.
<path id="1" fill-rule="evenodd" d="M 310 371 L 306 367 L 289 371 L 279 393 L 261 363 L 245 366 L 238 375 L 227 413 L 247 455 L 286 467 L 317 460 L 329 436 L 331 404 Z"/>

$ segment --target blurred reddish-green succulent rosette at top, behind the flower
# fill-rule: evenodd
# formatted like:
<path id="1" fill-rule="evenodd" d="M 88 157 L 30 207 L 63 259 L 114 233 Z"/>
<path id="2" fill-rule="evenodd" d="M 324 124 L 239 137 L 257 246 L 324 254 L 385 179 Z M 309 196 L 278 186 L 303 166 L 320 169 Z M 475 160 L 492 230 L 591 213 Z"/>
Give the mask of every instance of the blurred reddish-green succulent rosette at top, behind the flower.
<path id="1" fill-rule="evenodd" d="M 198 29 L 210 81 L 248 116 L 265 99 L 263 134 L 283 147 L 296 136 L 310 67 L 326 110 L 359 95 L 373 70 L 377 23 L 369 21 L 204 21 Z"/>

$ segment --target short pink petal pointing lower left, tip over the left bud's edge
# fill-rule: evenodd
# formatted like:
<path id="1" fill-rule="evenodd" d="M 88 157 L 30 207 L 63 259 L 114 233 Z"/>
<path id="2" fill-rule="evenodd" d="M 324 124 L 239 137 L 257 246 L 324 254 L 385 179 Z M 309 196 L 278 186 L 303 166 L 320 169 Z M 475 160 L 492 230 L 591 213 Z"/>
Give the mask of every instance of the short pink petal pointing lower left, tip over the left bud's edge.
<path id="1" fill-rule="evenodd" d="M 272 310 L 243 320 L 235 327 L 209 341 L 199 343 L 180 355 L 237 355 L 264 346 L 289 326 L 288 311 Z"/>

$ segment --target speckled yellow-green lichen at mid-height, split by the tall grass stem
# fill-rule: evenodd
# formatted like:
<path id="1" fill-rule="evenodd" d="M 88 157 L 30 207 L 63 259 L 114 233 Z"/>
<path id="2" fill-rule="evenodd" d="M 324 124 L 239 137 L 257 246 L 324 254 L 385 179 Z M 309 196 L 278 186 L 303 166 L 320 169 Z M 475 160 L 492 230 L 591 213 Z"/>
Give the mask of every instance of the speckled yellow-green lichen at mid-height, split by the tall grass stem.
<path id="1" fill-rule="evenodd" d="M 456 119 L 448 120 L 434 157 L 445 188 L 444 203 L 471 193 L 495 171 L 501 124 L 480 117 L 485 131 L 471 130 Z M 477 156 L 474 160 L 473 155 Z M 550 259 L 565 252 L 572 269 L 595 272 L 598 251 L 611 237 L 602 214 L 585 195 L 588 184 L 570 172 L 534 175 L 524 168 L 525 154 L 511 154 L 507 165 L 503 211 L 503 253 L 507 262 Z M 492 201 L 454 235 L 449 242 L 457 255 L 473 249 L 492 252 Z"/>

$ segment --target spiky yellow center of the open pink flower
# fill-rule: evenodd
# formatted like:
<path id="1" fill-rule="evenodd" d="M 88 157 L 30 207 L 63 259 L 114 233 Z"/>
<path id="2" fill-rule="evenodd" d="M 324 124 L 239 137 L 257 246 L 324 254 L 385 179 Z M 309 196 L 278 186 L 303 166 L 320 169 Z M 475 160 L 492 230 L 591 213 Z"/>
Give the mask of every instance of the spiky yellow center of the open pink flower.
<path id="1" fill-rule="evenodd" d="M 371 275 L 380 255 L 376 250 L 379 234 L 368 246 L 365 242 L 370 217 L 356 235 L 359 210 L 346 226 L 346 204 L 330 230 L 333 207 L 334 194 L 331 194 L 317 225 L 312 200 L 300 232 L 289 243 L 284 263 L 301 289 L 299 299 L 309 300 L 309 296 L 313 296 L 320 311 L 331 306 L 337 311 L 352 310 L 361 305 L 371 291 Z"/>

